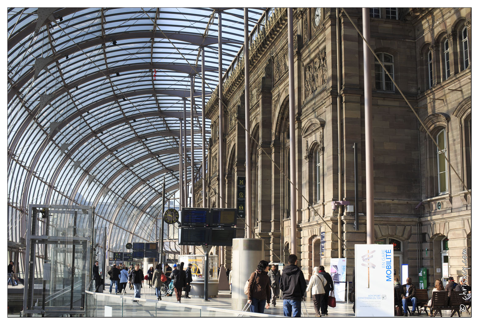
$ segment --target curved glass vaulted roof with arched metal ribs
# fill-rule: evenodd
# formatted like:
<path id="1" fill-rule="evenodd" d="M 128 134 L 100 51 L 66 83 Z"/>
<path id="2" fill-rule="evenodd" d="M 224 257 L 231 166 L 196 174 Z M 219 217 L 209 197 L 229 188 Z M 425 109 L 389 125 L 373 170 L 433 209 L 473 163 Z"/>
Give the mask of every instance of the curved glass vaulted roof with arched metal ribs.
<path id="1" fill-rule="evenodd" d="M 155 240 L 163 180 L 167 200 L 179 189 L 191 76 L 201 170 L 195 72 L 204 46 L 207 101 L 218 82 L 218 11 L 224 72 L 242 47 L 243 8 L 8 9 L 8 240 L 25 237 L 29 204 L 95 206 L 95 228 L 107 227 L 112 251 Z M 248 11 L 251 32 L 272 10 Z M 190 163 L 189 136 L 187 147 Z"/>

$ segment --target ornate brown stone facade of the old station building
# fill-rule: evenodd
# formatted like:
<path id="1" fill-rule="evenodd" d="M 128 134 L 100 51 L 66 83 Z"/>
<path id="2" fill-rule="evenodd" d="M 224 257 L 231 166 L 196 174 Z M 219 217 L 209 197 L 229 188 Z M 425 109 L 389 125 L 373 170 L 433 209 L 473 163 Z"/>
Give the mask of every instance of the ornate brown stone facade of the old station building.
<path id="1" fill-rule="evenodd" d="M 354 143 L 359 149 L 359 203 L 354 207 L 359 212 L 359 230 L 354 230 L 354 212 L 342 213 L 340 225 L 348 274 L 352 273 L 354 244 L 364 244 L 366 240 L 363 42 L 353 23 L 340 11 L 338 69 L 336 9 L 321 8 L 319 25 L 314 22 L 314 10 L 293 11 L 297 142 L 297 152 L 293 154 L 297 157 L 297 172 L 292 176 L 297 180 L 296 234 L 290 232 L 287 181 L 290 153 L 285 8 L 274 9 L 250 46 L 254 232 L 264 238 L 270 250 L 266 259 L 272 262 L 287 259 L 291 236 L 296 236 L 298 265 L 307 278 L 312 267 L 329 266 L 330 258 L 340 254 L 338 210 L 331 209 L 331 202 L 348 200 L 354 204 Z M 362 30 L 360 9 L 349 8 L 347 12 Z M 381 17 L 386 17 L 385 8 L 381 8 L 381 13 Z M 399 245 L 395 252 L 398 274 L 400 264 L 409 264 L 409 274 L 418 283 L 418 268 L 427 267 L 431 287 L 434 279 L 441 278 L 444 256 L 448 255 L 448 273 L 455 277 L 462 271 L 463 249 L 470 256 L 471 10 L 398 8 L 397 18 L 370 19 L 371 46 L 376 54 L 384 53 L 394 81 L 424 125 L 418 122 L 396 87 L 382 90 L 387 89 L 387 76 L 377 69 L 372 57 L 375 237 Z M 468 31 L 466 52 L 464 27 Z M 446 39 L 449 72 L 444 53 Z M 428 60 L 431 57 L 432 62 Z M 235 180 L 245 175 L 243 67 L 241 58 L 233 70 L 229 68 L 224 81 L 224 180 L 219 180 L 217 173 L 217 91 L 207 104 L 207 118 L 214 129 L 208 148 L 208 164 L 212 166 L 208 169 L 208 182 L 215 189 L 208 191 L 211 207 L 218 206 L 218 182 L 226 183 L 226 207 L 236 207 Z M 342 103 L 339 144 L 338 71 Z M 459 177 L 447 167 L 447 190 L 440 193 L 438 182 L 444 183 L 444 173 L 438 175 L 440 158 L 426 130 L 437 141 L 444 129 L 446 157 Z M 342 179 L 338 179 L 338 147 L 342 151 Z M 338 182 L 342 182 L 341 195 Z M 239 222 L 239 237 L 244 236 L 241 224 L 244 222 Z M 321 232 L 325 237 L 323 251 Z M 449 250 L 442 249 L 445 238 Z M 226 262 L 229 263 L 228 252 Z"/>

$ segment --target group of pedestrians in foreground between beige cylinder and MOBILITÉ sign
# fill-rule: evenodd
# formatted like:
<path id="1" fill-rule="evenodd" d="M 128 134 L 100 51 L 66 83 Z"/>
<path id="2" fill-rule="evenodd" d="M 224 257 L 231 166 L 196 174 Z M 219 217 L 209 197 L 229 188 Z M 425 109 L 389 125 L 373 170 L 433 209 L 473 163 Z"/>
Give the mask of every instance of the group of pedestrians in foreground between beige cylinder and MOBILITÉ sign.
<path id="1" fill-rule="evenodd" d="M 264 309 L 268 309 L 270 303 L 276 306 L 276 298 L 281 290 L 285 316 L 301 317 L 301 302 L 306 291 L 311 291 L 316 316 L 328 314 L 327 297 L 330 291 L 334 290 L 334 282 L 323 266 L 314 267 L 314 275 L 307 286 L 304 274 L 297 266 L 296 255 L 289 255 L 288 265 L 283 268 L 281 274 L 275 265 L 269 270 L 268 264 L 267 261 L 260 261 L 248 280 L 246 293 L 252 313 L 264 313 Z"/>

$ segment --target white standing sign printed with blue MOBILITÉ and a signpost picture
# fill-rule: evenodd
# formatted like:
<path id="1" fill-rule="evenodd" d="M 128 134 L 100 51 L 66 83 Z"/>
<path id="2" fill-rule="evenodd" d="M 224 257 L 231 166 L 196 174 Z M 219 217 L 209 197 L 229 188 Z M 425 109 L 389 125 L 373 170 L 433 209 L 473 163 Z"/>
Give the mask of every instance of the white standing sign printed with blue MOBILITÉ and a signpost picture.
<path id="1" fill-rule="evenodd" d="M 357 317 L 394 317 L 393 245 L 354 245 Z"/>

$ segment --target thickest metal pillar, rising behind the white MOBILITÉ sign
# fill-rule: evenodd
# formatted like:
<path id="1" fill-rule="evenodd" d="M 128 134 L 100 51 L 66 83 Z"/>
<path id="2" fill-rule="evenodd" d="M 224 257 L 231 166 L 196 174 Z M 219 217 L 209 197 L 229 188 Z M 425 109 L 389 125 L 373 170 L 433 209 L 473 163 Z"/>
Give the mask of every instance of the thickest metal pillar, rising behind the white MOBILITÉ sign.
<path id="1" fill-rule="evenodd" d="M 374 244 L 374 171 L 373 171 L 373 107 L 371 93 L 371 52 L 369 43 L 369 8 L 363 8 L 364 120 L 366 151 L 366 244 Z M 367 42 L 367 43 L 366 43 Z"/>

